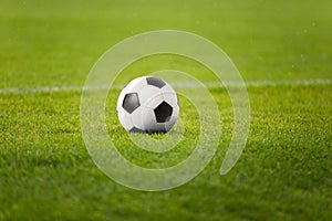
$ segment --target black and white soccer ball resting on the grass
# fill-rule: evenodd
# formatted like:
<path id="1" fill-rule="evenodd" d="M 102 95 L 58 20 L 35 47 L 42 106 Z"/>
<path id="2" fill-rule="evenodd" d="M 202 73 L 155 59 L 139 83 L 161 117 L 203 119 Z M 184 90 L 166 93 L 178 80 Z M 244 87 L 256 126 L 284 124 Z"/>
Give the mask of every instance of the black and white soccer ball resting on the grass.
<path id="1" fill-rule="evenodd" d="M 167 133 L 176 123 L 179 106 L 169 84 L 142 76 L 126 85 L 117 99 L 117 117 L 131 133 Z"/>

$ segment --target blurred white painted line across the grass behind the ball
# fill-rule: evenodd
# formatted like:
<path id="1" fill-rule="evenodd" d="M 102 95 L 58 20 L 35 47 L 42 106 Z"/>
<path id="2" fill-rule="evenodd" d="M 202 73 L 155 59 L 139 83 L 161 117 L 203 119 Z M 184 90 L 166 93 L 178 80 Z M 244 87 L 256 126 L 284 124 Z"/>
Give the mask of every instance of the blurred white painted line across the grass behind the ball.
<path id="1" fill-rule="evenodd" d="M 245 83 L 247 87 L 261 87 L 261 86 L 310 86 L 310 85 L 331 85 L 332 80 L 281 80 L 281 81 L 249 81 Z M 172 84 L 174 88 L 197 88 L 196 83 L 183 82 Z M 239 87 L 243 86 L 241 82 L 227 82 L 228 86 Z M 219 88 L 222 85 L 218 82 L 205 83 L 208 88 Z M 107 85 L 101 85 L 95 87 L 84 87 L 91 91 L 103 91 L 108 90 Z M 114 85 L 113 90 L 123 88 L 121 85 Z M 83 86 L 44 86 L 44 87 L 10 87 L 0 88 L 0 94 L 44 94 L 44 93 L 56 93 L 56 92 L 82 92 Z"/>

